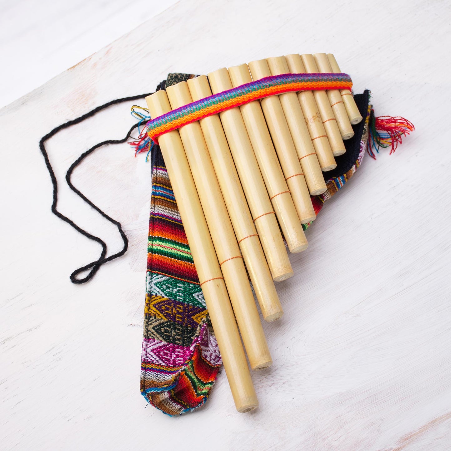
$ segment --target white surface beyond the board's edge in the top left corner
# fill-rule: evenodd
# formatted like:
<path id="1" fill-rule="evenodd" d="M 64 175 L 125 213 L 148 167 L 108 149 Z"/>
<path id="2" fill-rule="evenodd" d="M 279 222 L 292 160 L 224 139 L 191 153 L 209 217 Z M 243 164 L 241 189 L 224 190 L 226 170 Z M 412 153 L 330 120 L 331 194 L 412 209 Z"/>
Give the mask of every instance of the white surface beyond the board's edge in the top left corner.
<path id="1" fill-rule="evenodd" d="M 0 57 L 8 68 L 0 71 L 0 107 L 151 20 L 175 2 L 0 0 Z"/>

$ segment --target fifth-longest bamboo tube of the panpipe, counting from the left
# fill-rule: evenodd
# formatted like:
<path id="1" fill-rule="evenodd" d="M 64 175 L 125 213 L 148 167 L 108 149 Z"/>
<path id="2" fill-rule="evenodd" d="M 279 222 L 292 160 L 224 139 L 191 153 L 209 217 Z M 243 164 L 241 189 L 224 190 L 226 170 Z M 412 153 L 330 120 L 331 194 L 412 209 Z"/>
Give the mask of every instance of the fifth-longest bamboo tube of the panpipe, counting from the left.
<path id="1" fill-rule="evenodd" d="M 228 72 L 234 87 L 252 82 L 247 64 L 230 67 Z M 288 249 L 292 253 L 301 252 L 307 249 L 307 239 L 277 159 L 276 151 L 272 145 L 260 103 L 258 101 L 249 102 L 240 106 L 239 110 L 243 116 L 258 166 L 262 172 Z"/>

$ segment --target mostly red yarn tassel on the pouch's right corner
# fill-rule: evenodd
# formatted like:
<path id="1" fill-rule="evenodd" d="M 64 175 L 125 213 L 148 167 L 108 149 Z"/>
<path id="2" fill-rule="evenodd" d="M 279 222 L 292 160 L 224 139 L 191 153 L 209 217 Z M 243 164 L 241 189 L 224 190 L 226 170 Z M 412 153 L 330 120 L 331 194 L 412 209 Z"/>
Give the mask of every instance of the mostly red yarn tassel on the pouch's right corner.
<path id="1" fill-rule="evenodd" d="M 368 154 L 376 160 L 374 150 L 379 153 L 379 147 L 390 148 L 390 155 L 395 152 L 402 137 L 414 131 L 414 124 L 400 116 L 378 116 L 375 117 L 374 110 L 371 110 Z"/>

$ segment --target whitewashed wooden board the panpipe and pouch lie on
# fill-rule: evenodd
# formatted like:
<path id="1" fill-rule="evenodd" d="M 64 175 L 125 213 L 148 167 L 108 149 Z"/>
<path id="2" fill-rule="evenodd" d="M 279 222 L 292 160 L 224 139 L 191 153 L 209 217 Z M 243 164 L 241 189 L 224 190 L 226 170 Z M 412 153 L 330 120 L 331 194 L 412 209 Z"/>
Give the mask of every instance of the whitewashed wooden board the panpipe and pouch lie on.
<path id="1" fill-rule="evenodd" d="M 449 17 L 445 1 L 186 0 L 0 110 L 0 448 L 450 449 Z M 39 138 L 152 91 L 170 71 L 295 51 L 336 54 L 355 91 L 372 90 L 377 115 L 403 115 L 416 131 L 394 156 L 365 157 L 292 256 L 295 276 L 278 284 L 285 317 L 265 324 L 275 363 L 253 377 L 259 409 L 238 414 L 221 373 L 192 414 L 144 410 L 150 164 L 123 145 L 76 171 L 130 250 L 72 285 L 69 273 L 99 249 L 51 215 Z M 118 106 L 52 139 L 60 181 L 80 152 L 130 124 Z M 119 249 L 117 232 L 63 184 L 59 206 Z"/>

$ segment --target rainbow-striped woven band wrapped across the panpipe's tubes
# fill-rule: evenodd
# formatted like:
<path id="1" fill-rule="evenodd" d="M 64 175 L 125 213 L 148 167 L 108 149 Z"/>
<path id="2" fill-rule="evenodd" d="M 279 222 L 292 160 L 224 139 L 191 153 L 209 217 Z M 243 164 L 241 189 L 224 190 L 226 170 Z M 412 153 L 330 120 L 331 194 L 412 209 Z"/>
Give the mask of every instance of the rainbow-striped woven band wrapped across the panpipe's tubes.
<path id="1" fill-rule="evenodd" d="M 351 87 L 352 81 L 348 74 L 272 75 L 227 91 L 218 92 L 151 119 L 147 123 L 147 133 L 152 141 L 158 144 L 157 138 L 164 133 L 263 97 L 276 96 L 292 91 L 351 89 Z"/>

